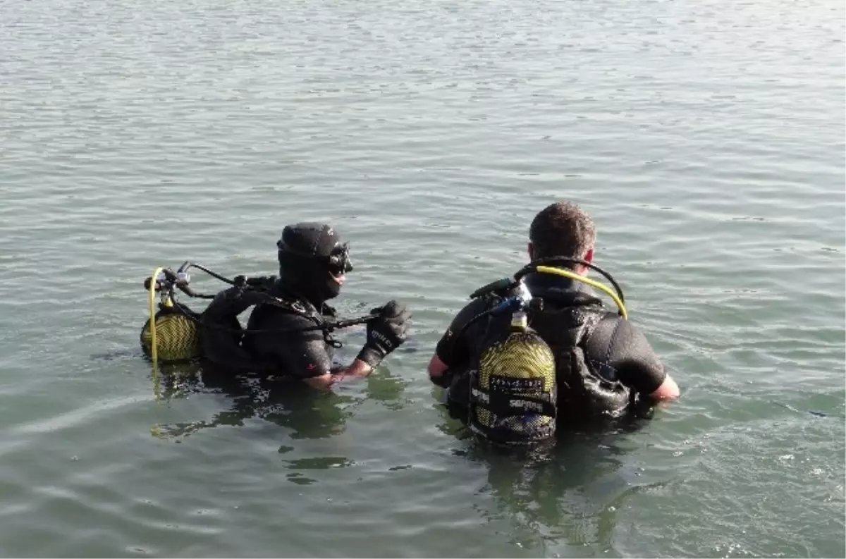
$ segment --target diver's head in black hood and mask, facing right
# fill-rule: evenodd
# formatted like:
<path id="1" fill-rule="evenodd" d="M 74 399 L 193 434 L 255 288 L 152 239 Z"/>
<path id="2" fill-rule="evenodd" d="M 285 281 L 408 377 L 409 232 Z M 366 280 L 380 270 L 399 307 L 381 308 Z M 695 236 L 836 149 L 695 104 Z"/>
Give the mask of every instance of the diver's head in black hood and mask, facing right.
<path id="1" fill-rule="evenodd" d="M 282 282 L 320 308 L 338 297 L 344 274 L 353 270 L 349 244 L 326 223 L 300 222 L 286 226 L 277 242 Z"/>

